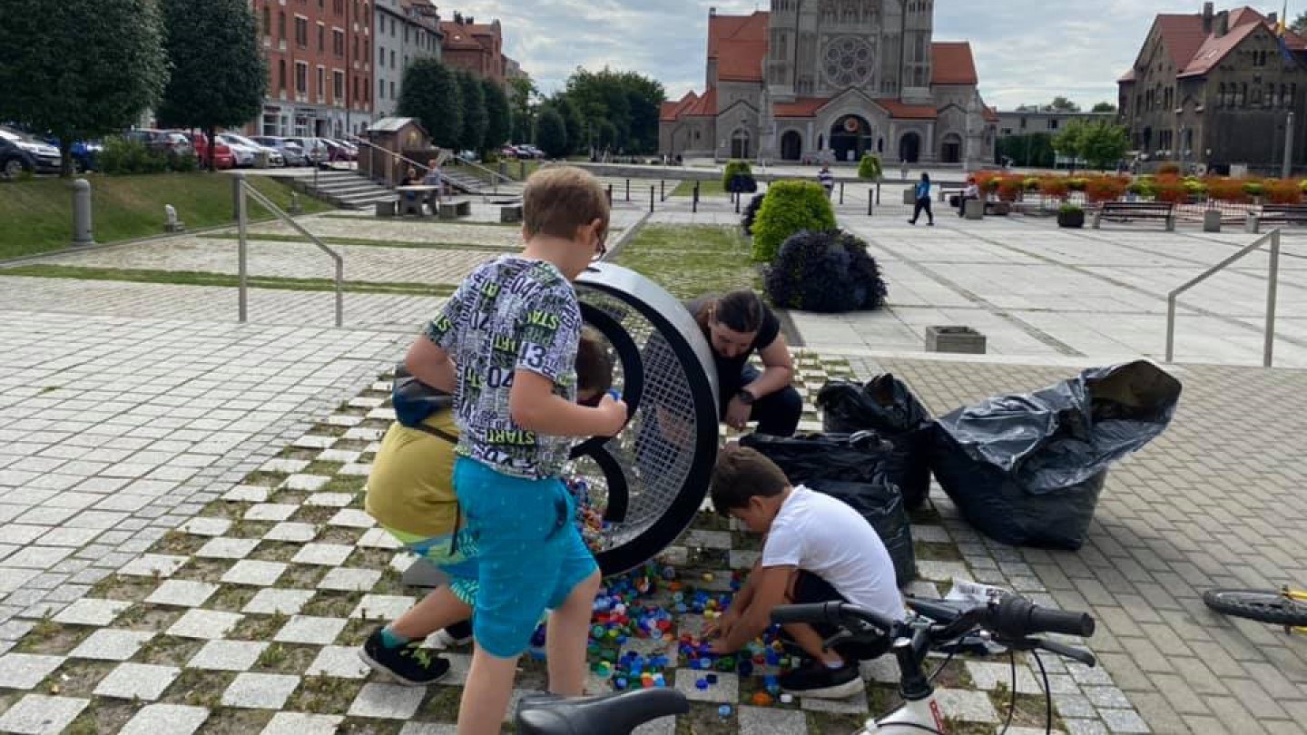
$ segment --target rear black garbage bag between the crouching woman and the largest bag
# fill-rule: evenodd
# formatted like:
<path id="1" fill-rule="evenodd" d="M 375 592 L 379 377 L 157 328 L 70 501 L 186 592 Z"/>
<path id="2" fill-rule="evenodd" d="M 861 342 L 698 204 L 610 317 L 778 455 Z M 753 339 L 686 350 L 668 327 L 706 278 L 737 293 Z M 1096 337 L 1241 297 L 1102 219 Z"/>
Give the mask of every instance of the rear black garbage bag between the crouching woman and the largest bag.
<path id="1" fill-rule="evenodd" d="M 931 412 L 907 383 L 886 373 L 865 386 L 835 381 L 817 394 L 822 428 L 830 433 L 873 429 L 894 445 L 886 473 L 908 509 L 931 494 Z"/>

